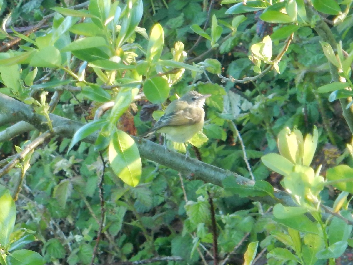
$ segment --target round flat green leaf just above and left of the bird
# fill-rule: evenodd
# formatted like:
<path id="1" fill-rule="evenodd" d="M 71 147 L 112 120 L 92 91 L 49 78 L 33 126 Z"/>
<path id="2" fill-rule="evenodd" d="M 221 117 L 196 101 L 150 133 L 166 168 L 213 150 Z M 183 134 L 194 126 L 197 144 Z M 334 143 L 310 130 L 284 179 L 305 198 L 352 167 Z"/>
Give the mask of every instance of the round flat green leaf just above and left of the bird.
<path id="1" fill-rule="evenodd" d="M 146 80 L 143 85 L 143 93 L 154 104 L 165 102 L 168 98 L 169 90 L 168 81 L 161 76 L 152 77 Z"/>

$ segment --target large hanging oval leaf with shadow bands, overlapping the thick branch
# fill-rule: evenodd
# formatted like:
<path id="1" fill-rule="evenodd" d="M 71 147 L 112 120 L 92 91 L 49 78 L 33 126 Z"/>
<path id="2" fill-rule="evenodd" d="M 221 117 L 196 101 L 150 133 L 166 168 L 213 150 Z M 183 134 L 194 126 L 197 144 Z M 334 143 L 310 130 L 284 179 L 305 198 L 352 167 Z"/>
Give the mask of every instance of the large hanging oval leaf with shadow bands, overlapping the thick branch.
<path id="1" fill-rule="evenodd" d="M 108 157 L 114 173 L 126 184 L 136 187 L 142 174 L 142 162 L 131 136 L 124 131 L 115 131 L 110 139 Z"/>

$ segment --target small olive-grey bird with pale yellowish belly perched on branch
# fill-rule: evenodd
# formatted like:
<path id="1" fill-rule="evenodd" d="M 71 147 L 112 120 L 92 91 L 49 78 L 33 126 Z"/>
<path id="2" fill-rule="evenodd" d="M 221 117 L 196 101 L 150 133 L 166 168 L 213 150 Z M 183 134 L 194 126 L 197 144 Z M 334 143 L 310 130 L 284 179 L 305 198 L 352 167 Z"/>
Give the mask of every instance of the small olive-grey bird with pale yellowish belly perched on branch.
<path id="1" fill-rule="evenodd" d="M 170 141 L 186 143 L 202 130 L 205 121 L 203 106 L 209 96 L 211 95 L 202 95 L 196 91 L 187 92 L 180 99 L 170 103 L 163 116 L 142 137 L 157 132 L 165 134 Z"/>

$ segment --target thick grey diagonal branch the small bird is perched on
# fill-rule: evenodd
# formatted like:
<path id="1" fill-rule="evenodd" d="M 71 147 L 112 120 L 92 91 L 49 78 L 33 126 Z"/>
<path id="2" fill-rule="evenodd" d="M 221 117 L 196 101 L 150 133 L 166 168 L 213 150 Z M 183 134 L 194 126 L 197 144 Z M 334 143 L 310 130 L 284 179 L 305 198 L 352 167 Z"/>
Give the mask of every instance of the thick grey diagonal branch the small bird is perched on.
<path id="1" fill-rule="evenodd" d="M 34 113 L 32 107 L 20 101 L 17 101 L 9 96 L 0 93 L 0 113 L 6 113 L 8 117 L 12 117 L 12 122 L 24 120 L 30 123 L 39 131 L 48 130 L 48 125 L 44 116 Z M 72 138 L 74 133 L 83 126 L 82 123 L 63 118 L 54 114 L 49 114 L 54 129 L 60 131 L 60 135 L 67 138 Z M 91 134 L 83 141 L 94 144 L 98 133 Z M 209 165 L 193 158 L 186 158 L 184 154 L 179 154 L 172 150 L 166 150 L 163 146 L 157 145 L 154 142 L 132 136 L 137 144 L 140 155 L 151 161 L 167 166 L 184 174 L 191 174 L 195 179 L 200 179 L 207 183 L 222 186 L 222 181 L 228 176 L 233 176 L 240 185 L 253 185 L 250 179 L 238 175 L 229 170 L 224 170 L 219 167 Z M 268 204 L 276 204 L 281 202 L 285 205 L 294 206 L 292 198 L 285 192 L 275 189 L 275 199 L 270 196 L 261 198 L 253 197 L 253 200 L 265 202 Z"/>

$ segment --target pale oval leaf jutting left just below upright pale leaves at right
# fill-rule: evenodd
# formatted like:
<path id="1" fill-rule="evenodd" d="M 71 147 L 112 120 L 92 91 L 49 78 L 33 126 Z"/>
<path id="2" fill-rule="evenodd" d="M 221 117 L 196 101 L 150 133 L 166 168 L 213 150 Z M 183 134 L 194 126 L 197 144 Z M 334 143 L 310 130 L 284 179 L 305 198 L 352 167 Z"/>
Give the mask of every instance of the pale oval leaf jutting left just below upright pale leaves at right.
<path id="1" fill-rule="evenodd" d="M 273 170 L 283 176 L 290 175 L 291 172 L 293 172 L 293 170 L 294 170 L 294 164 L 279 154 L 274 154 L 274 153 L 265 154 L 261 158 L 261 161 L 269 169 L 271 169 L 271 170 Z"/>

